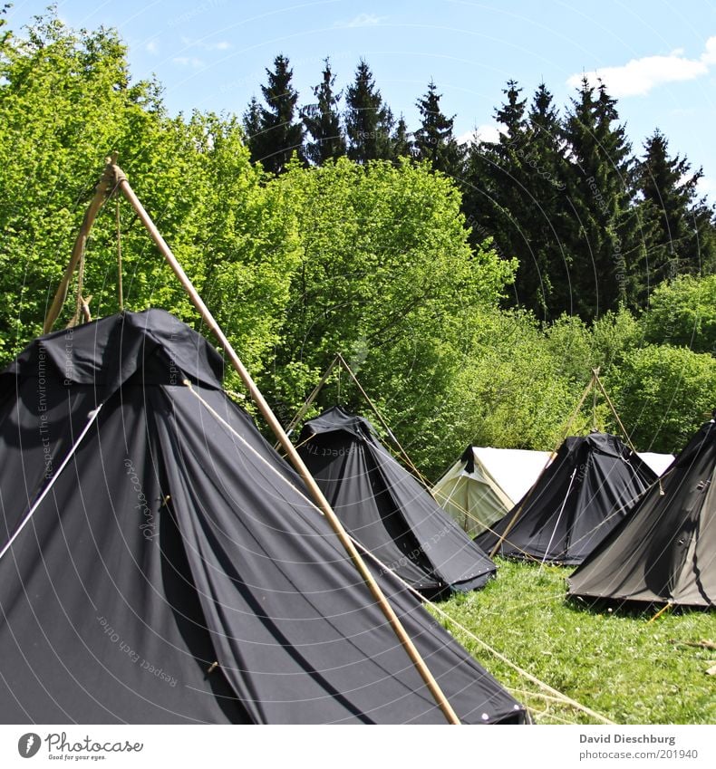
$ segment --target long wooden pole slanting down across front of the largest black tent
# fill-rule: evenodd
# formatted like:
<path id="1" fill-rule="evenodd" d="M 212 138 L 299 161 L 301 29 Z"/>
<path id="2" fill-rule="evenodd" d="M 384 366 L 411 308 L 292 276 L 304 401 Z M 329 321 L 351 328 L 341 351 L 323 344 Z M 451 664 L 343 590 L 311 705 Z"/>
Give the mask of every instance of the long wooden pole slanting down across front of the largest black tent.
<path id="1" fill-rule="evenodd" d="M 438 704 L 438 707 L 440 707 L 440 710 L 447 719 L 448 723 L 460 724 L 460 719 L 450 705 L 447 697 L 445 697 L 445 694 L 440 688 L 440 685 L 435 680 L 428 666 L 425 664 L 425 660 L 421 658 L 420 652 L 418 649 L 416 649 L 405 628 L 403 628 L 401 620 L 398 618 L 398 615 L 395 613 L 395 610 L 393 610 L 391 604 L 385 598 L 380 585 L 375 582 L 373 574 L 365 565 L 365 562 L 363 561 L 360 553 L 358 553 L 355 545 L 353 544 L 353 541 L 343 528 L 343 524 L 341 524 L 331 505 L 329 505 L 328 501 L 324 497 L 323 492 L 314 481 L 314 477 L 309 473 L 308 468 L 305 466 L 303 460 L 298 455 L 298 452 L 295 450 L 295 447 L 291 443 L 290 438 L 285 434 L 285 430 L 281 427 L 281 423 L 276 418 L 276 415 L 271 410 L 271 407 L 266 402 L 266 399 L 264 399 L 261 391 L 256 387 L 256 383 L 251 378 L 251 375 L 248 373 L 244 364 L 239 359 L 236 351 L 234 351 L 234 348 L 231 346 L 231 343 L 228 341 L 224 332 L 221 331 L 218 322 L 214 320 L 214 316 L 211 314 L 211 312 L 209 312 L 207 305 L 199 296 L 196 288 L 194 288 L 194 285 L 189 280 L 188 275 L 184 272 L 181 264 L 179 264 L 176 257 L 171 253 L 169 245 L 166 244 L 164 238 L 160 234 L 160 231 L 151 221 L 149 214 L 147 214 L 147 212 L 144 210 L 144 207 L 141 205 L 139 198 L 134 194 L 134 191 L 130 187 L 129 181 L 124 176 L 121 168 L 114 166 L 114 169 L 121 194 L 127 199 L 131 207 L 140 217 L 141 223 L 147 228 L 151 239 L 159 248 L 160 254 L 167 260 L 169 266 L 174 271 L 174 274 L 176 274 L 179 278 L 179 282 L 184 286 L 184 289 L 189 294 L 189 297 L 201 315 L 202 320 L 214 333 L 221 345 L 221 348 L 227 354 L 228 359 L 231 360 L 232 365 L 237 370 L 238 375 L 246 385 L 251 398 L 254 400 L 259 411 L 261 411 L 261 414 L 266 419 L 269 427 L 274 431 L 274 434 L 278 438 L 286 456 L 291 460 L 299 476 L 301 476 L 303 479 L 306 487 L 308 488 L 308 491 L 314 498 L 315 504 L 328 519 L 328 522 L 331 524 L 331 527 L 333 528 L 336 536 L 343 544 L 346 552 L 351 557 L 355 568 L 358 570 L 358 572 L 360 572 L 361 576 L 363 577 L 363 581 L 373 594 L 373 598 L 381 607 L 385 619 L 390 623 L 393 632 L 400 640 L 403 649 L 405 649 L 406 653 L 411 658 L 412 664 L 415 666 L 422 680 L 425 682 L 425 685 L 430 690 L 432 697 L 435 698 L 435 702 Z"/>

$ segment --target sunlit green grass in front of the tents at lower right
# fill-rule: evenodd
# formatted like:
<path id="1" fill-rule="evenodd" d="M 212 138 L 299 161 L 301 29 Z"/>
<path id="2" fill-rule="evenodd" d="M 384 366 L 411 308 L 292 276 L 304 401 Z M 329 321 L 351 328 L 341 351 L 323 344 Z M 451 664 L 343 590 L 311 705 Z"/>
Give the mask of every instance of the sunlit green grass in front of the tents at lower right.
<path id="1" fill-rule="evenodd" d="M 716 612 L 591 608 L 566 600 L 558 566 L 498 559 L 498 578 L 440 608 L 479 639 L 567 697 L 617 724 L 714 724 L 716 651 L 684 642 L 716 641 Z M 600 723 L 500 661 L 447 620 L 443 625 L 542 724 Z M 545 696 L 547 694 L 547 696 Z"/>

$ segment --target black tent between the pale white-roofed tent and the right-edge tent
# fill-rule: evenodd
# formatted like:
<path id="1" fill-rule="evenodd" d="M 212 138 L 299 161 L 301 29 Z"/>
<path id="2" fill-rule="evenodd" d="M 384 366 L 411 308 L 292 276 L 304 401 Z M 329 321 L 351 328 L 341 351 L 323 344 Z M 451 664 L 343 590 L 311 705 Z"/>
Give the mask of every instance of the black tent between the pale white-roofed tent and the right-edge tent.
<path id="1" fill-rule="evenodd" d="M 507 531 L 501 555 L 576 565 L 655 480 L 653 470 L 616 436 L 568 437 L 523 500 L 476 541 L 491 552 Z"/>

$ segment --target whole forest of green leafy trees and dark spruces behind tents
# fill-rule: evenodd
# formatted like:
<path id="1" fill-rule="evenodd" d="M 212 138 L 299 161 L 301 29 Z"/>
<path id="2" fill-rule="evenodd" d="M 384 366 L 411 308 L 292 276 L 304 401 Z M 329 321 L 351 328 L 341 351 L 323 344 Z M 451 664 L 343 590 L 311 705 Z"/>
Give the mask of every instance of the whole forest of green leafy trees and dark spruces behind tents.
<path id="1" fill-rule="evenodd" d="M 678 451 L 711 416 L 713 207 L 660 131 L 630 145 L 604 85 L 559 109 L 547 84 L 508 82 L 498 140 L 460 144 L 435 83 L 409 127 L 368 62 L 336 92 L 326 61 L 302 99 L 278 54 L 243 115 L 171 117 L 115 31 L 52 12 L 20 33 L 0 23 L 3 363 L 40 334 L 117 151 L 285 422 L 337 351 L 431 479 L 469 443 L 555 448 L 595 367 L 640 450 Z M 201 331 L 139 220 L 120 216 L 125 308 Z M 94 317 L 119 309 L 117 265 L 112 199 L 88 246 Z M 309 416 L 335 402 L 366 412 L 336 375 Z M 620 431 L 601 399 L 572 427 Z"/>

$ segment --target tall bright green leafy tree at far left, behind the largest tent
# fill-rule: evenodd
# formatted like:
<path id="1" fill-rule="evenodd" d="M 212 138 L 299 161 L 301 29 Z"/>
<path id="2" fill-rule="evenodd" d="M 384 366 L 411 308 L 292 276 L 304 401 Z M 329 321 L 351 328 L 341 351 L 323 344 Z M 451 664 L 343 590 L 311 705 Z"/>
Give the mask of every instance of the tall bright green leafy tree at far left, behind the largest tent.
<path id="1" fill-rule="evenodd" d="M 0 55 L 0 340 L 5 360 L 39 335 L 84 209 L 119 152 L 121 167 L 252 370 L 273 348 L 297 264 L 295 221 L 253 168 L 236 119 L 169 119 L 151 82 L 131 82 L 115 32 L 73 31 L 54 14 Z M 111 120 L 107 116 L 111 115 Z M 114 202 L 92 228 L 84 294 L 116 312 Z M 136 217 L 122 204 L 124 306 L 198 318 Z M 76 284 L 71 286 L 71 295 Z M 73 314 L 66 303 L 60 322 Z"/>

